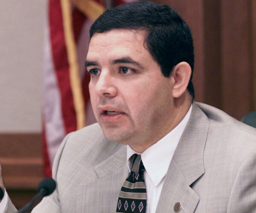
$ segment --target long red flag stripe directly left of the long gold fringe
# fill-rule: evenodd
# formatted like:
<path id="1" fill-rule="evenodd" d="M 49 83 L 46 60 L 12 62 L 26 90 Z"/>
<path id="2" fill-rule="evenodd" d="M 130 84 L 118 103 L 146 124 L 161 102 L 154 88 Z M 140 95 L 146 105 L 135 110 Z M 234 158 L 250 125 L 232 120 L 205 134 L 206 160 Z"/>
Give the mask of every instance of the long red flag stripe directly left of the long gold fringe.
<path id="1" fill-rule="evenodd" d="M 49 1 L 52 59 L 61 93 L 61 111 L 66 133 L 76 130 L 76 112 L 70 85 L 69 63 L 64 38 L 60 0 Z"/>

